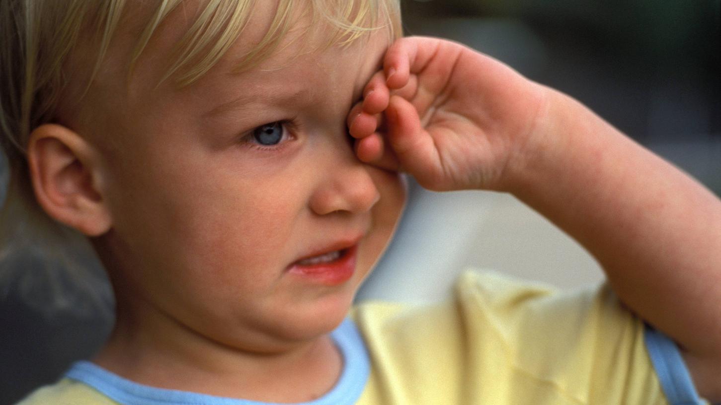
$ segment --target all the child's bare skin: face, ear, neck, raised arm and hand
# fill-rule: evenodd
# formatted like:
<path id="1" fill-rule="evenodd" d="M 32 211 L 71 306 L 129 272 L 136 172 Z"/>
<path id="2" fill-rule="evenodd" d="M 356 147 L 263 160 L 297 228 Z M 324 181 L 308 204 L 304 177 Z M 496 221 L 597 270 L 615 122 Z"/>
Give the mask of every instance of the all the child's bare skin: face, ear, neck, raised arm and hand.
<path id="1" fill-rule="evenodd" d="M 441 40 L 400 40 L 383 70 L 387 44 L 371 39 L 363 49 L 278 53 L 232 75 L 238 44 L 193 86 L 156 89 L 193 15 L 184 12 L 169 17 L 129 82 L 120 67 L 135 34 L 121 32 L 87 99 L 28 146 L 38 201 L 92 236 L 115 286 L 118 324 L 99 365 L 153 386 L 259 401 L 326 392 L 341 367 L 327 331 L 392 233 L 403 192 L 386 169 L 404 169 L 433 190 L 513 192 L 547 215 L 596 256 L 632 311 L 676 339 L 699 392 L 720 399 L 721 203 L 699 184 L 570 97 Z M 267 15 L 248 32 L 262 32 Z M 71 78 L 87 74 L 74 67 Z M 343 120 L 361 91 L 348 125 L 358 158 L 376 168 L 346 141 Z M 255 97 L 204 115 L 242 94 Z M 257 125 L 293 118 L 302 130 L 281 148 L 243 141 Z M 319 288 L 283 271 L 358 235 L 347 285 Z"/>

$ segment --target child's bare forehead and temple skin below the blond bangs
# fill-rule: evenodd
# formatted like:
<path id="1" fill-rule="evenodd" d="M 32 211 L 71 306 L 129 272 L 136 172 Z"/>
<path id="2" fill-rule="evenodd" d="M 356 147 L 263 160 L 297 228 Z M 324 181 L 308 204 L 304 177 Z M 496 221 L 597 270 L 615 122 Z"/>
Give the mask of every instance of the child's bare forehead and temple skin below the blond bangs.
<path id="1" fill-rule="evenodd" d="M 139 3 L 133 1 L 132 4 Z M 152 18 L 153 7 L 130 10 L 127 18 L 135 15 L 143 17 L 138 20 L 145 21 L 121 24 L 123 28 L 118 32 L 117 40 L 111 44 L 87 98 L 81 102 L 79 115 L 68 123 L 96 139 L 97 146 L 112 154 L 126 146 L 136 148 L 135 138 L 145 138 L 143 133 L 165 133 L 170 127 L 180 125 L 180 121 L 191 124 L 193 117 L 216 108 L 235 109 L 256 95 L 273 93 L 286 105 L 300 99 L 336 102 L 332 108 L 318 107 L 327 107 L 324 111 L 329 114 L 339 113 L 360 95 L 365 81 L 378 68 L 382 52 L 389 45 L 389 31 L 384 29 L 374 30 L 347 46 L 334 45 L 314 51 L 313 48 L 322 48 L 328 30 L 322 25 L 311 26 L 311 15 L 298 8 L 288 19 L 292 24 L 287 27 L 283 40 L 277 47 L 269 49 L 272 52 L 263 55 L 262 63 L 237 72 L 238 62 L 259 45 L 262 48 L 263 38 L 273 25 L 276 1 L 257 1 L 242 34 L 229 42 L 229 48 L 224 50 L 218 63 L 193 84 L 179 87 L 172 80 L 162 79 L 177 58 L 174 52 L 178 42 L 203 12 L 199 3 L 183 2 L 162 20 L 131 75 L 128 74 L 128 61 L 143 25 Z M 203 61 L 193 62 L 202 64 Z M 334 83 L 337 86 L 333 86 Z M 275 99 L 266 98 L 265 101 Z M 259 103 L 255 104 L 256 109 L 262 108 Z"/>

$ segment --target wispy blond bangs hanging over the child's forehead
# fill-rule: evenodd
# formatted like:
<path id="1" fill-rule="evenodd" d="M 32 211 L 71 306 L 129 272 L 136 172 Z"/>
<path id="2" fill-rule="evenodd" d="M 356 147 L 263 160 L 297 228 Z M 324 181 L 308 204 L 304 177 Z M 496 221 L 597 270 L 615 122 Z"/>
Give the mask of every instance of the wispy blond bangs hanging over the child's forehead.
<path id="1" fill-rule="evenodd" d="M 164 0 L 158 6 L 133 51 L 131 72 L 157 27 L 180 3 L 182 0 Z M 182 87 L 206 74 L 241 37 L 252 18 L 253 4 L 252 1 L 209 0 L 178 42 L 174 61 L 161 82 L 172 79 Z M 280 0 L 265 35 L 236 61 L 234 72 L 253 68 L 277 52 L 294 23 L 309 14 L 311 23 L 299 31 L 293 30 L 286 47 L 319 26 L 329 28 L 324 32 L 322 48 L 349 45 L 369 32 L 382 29 L 388 30 L 391 41 L 401 32 L 400 10 L 395 0 Z"/>

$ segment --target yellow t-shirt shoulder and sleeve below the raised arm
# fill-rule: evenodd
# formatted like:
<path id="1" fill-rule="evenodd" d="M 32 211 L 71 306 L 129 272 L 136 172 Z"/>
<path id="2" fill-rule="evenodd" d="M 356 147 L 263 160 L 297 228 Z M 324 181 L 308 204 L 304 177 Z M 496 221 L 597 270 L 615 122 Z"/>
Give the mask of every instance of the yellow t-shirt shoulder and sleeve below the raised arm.
<path id="1" fill-rule="evenodd" d="M 547 391 L 541 403 L 663 403 L 644 326 L 607 285 L 565 292 L 469 271 L 444 303 L 368 303 L 355 319 L 374 367 L 409 386 L 442 383 L 465 395 L 458 382 L 470 378 L 485 387 L 482 398 L 505 403 Z"/>

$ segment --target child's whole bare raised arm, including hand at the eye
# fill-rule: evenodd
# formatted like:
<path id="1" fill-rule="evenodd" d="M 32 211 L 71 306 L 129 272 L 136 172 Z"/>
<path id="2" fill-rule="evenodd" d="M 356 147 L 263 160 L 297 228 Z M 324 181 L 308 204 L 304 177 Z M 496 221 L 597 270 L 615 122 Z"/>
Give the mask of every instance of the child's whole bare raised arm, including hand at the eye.
<path id="1" fill-rule="evenodd" d="M 462 45 L 398 40 L 348 115 L 358 157 L 511 192 L 578 240 L 721 401 L 721 200 L 565 94 Z"/>

